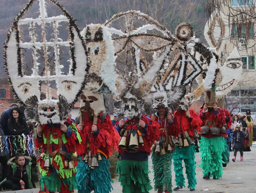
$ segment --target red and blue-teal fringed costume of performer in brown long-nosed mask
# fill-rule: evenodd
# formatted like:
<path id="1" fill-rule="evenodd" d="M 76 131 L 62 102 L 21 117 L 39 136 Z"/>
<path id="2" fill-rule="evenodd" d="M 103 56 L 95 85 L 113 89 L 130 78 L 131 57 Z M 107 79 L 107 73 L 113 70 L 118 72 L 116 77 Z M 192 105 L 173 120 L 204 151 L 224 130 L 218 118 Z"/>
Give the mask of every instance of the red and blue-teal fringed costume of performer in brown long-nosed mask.
<path id="1" fill-rule="evenodd" d="M 79 193 L 90 193 L 94 190 L 95 193 L 110 192 L 111 174 L 108 167 L 110 166 L 108 158 L 113 151 L 117 149 L 120 139 L 119 133 L 112 125 L 110 116 L 105 119 L 101 118 L 102 113 L 97 118 L 98 131 L 92 133 L 93 116 L 89 116 L 87 111 L 81 111 L 83 116 L 83 152 L 78 153 L 81 162 L 77 167 L 77 188 Z M 98 160 L 99 167 L 92 169 L 88 162 L 84 161 L 84 157 L 90 151 L 91 156 L 96 156 L 100 153 L 102 160 Z"/>

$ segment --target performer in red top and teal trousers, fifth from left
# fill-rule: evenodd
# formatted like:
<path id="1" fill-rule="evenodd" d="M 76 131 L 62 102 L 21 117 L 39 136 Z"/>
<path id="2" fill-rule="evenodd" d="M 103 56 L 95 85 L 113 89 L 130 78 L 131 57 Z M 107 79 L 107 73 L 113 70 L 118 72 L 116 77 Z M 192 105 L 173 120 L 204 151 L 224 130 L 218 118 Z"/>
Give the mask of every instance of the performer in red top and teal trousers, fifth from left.
<path id="1" fill-rule="evenodd" d="M 173 155 L 173 164 L 175 171 L 176 187 L 173 190 L 179 190 L 185 187 L 185 178 L 183 176 L 182 160 L 185 163 L 186 175 L 188 179 L 188 188 L 190 191 L 195 190 L 195 142 L 194 138 L 198 137 L 201 130 L 202 121 L 198 114 L 189 109 L 183 111 L 181 107 L 174 113 L 177 119 L 177 128 L 180 129 L 180 139 L 182 143 L 175 147 Z"/>

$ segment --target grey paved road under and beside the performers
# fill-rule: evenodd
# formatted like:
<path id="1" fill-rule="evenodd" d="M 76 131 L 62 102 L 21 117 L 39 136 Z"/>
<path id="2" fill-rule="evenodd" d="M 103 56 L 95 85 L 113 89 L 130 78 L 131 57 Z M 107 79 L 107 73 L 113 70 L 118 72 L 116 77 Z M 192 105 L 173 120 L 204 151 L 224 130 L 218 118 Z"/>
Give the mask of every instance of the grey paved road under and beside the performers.
<path id="1" fill-rule="evenodd" d="M 200 153 L 196 153 L 195 159 L 197 162 L 196 167 L 196 178 L 197 186 L 194 192 L 202 193 L 256 193 L 256 143 L 255 147 L 251 148 L 251 152 L 244 152 L 244 162 L 240 162 L 240 159 L 235 163 L 231 161 L 233 157 L 233 152 L 230 152 L 230 161 L 227 167 L 224 168 L 224 174 L 222 179 L 204 180 L 202 178 L 202 170 L 198 165 L 200 165 Z M 238 152 L 237 157 L 240 157 Z M 149 167 L 151 167 L 152 162 L 149 160 Z M 184 167 L 184 165 L 183 165 Z M 184 171 L 185 173 L 185 171 Z M 153 172 L 149 175 L 151 183 L 153 183 Z M 172 168 L 172 184 L 175 187 L 175 173 Z M 186 181 L 187 186 L 187 181 Z M 122 193 L 122 188 L 118 180 L 113 184 L 112 193 Z M 150 193 L 155 193 L 156 191 L 151 190 Z M 180 193 L 189 193 L 189 189 L 183 188 L 178 190 Z"/>

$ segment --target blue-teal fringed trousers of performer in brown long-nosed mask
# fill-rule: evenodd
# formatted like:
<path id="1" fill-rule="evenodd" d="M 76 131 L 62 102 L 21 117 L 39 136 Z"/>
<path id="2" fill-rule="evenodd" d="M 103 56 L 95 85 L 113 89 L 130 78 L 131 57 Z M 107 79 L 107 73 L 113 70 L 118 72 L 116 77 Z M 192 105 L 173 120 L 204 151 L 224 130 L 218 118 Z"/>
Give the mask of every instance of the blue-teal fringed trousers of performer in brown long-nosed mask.
<path id="1" fill-rule="evenodd" d="M 81 159 L 81 157 L 80 157 Z M 110 163 L 105 156 L 98 162 L 99 167 L 91 169 L 88 163 L 81 160 L 77 165 L 77 189 L 79 193 L 108 193 L 113 190 L 111 174 L 108 170 Z"/>

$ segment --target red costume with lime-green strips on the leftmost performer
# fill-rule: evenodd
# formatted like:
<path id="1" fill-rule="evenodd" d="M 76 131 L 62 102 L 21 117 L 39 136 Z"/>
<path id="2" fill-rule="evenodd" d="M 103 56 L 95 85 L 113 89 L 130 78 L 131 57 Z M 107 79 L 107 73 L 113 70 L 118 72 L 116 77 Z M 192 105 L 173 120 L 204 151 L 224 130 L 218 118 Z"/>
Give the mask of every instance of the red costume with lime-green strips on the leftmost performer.
<path id="1" fill-rule="evenodd" d="M 37 148 L 42 148 L 42 154 L 38 159 L 39 172 L 41 174 L 40 179 L 40 193 L 55 192 L 56 188 L 58 192 L 70 193 L 73 192 L 76 187 L 76 165 L 77 161 L 73 160 L 74 168 L 69 169 L 66 167 L 65 156 L 59 154 L 62 150 L 66 153 L 74 153 L 82 151 L 81 136 L 73 122 L 67 121 L 64 123 L 67 125 L 68 132 L 64 133 L 60 130 L 60 124 L 44 124 L 42 137 L 35 139 L 35 145 Z M 52 153 L 52 157 L 49 157 L 49 167 L 44 167 L 47 157 L 47 141 L 49 144 L 49 153 Z M 61 147 L 60 147 L 61 146 Z M 48 160 L 47 160 L 48 162 Z"/>

